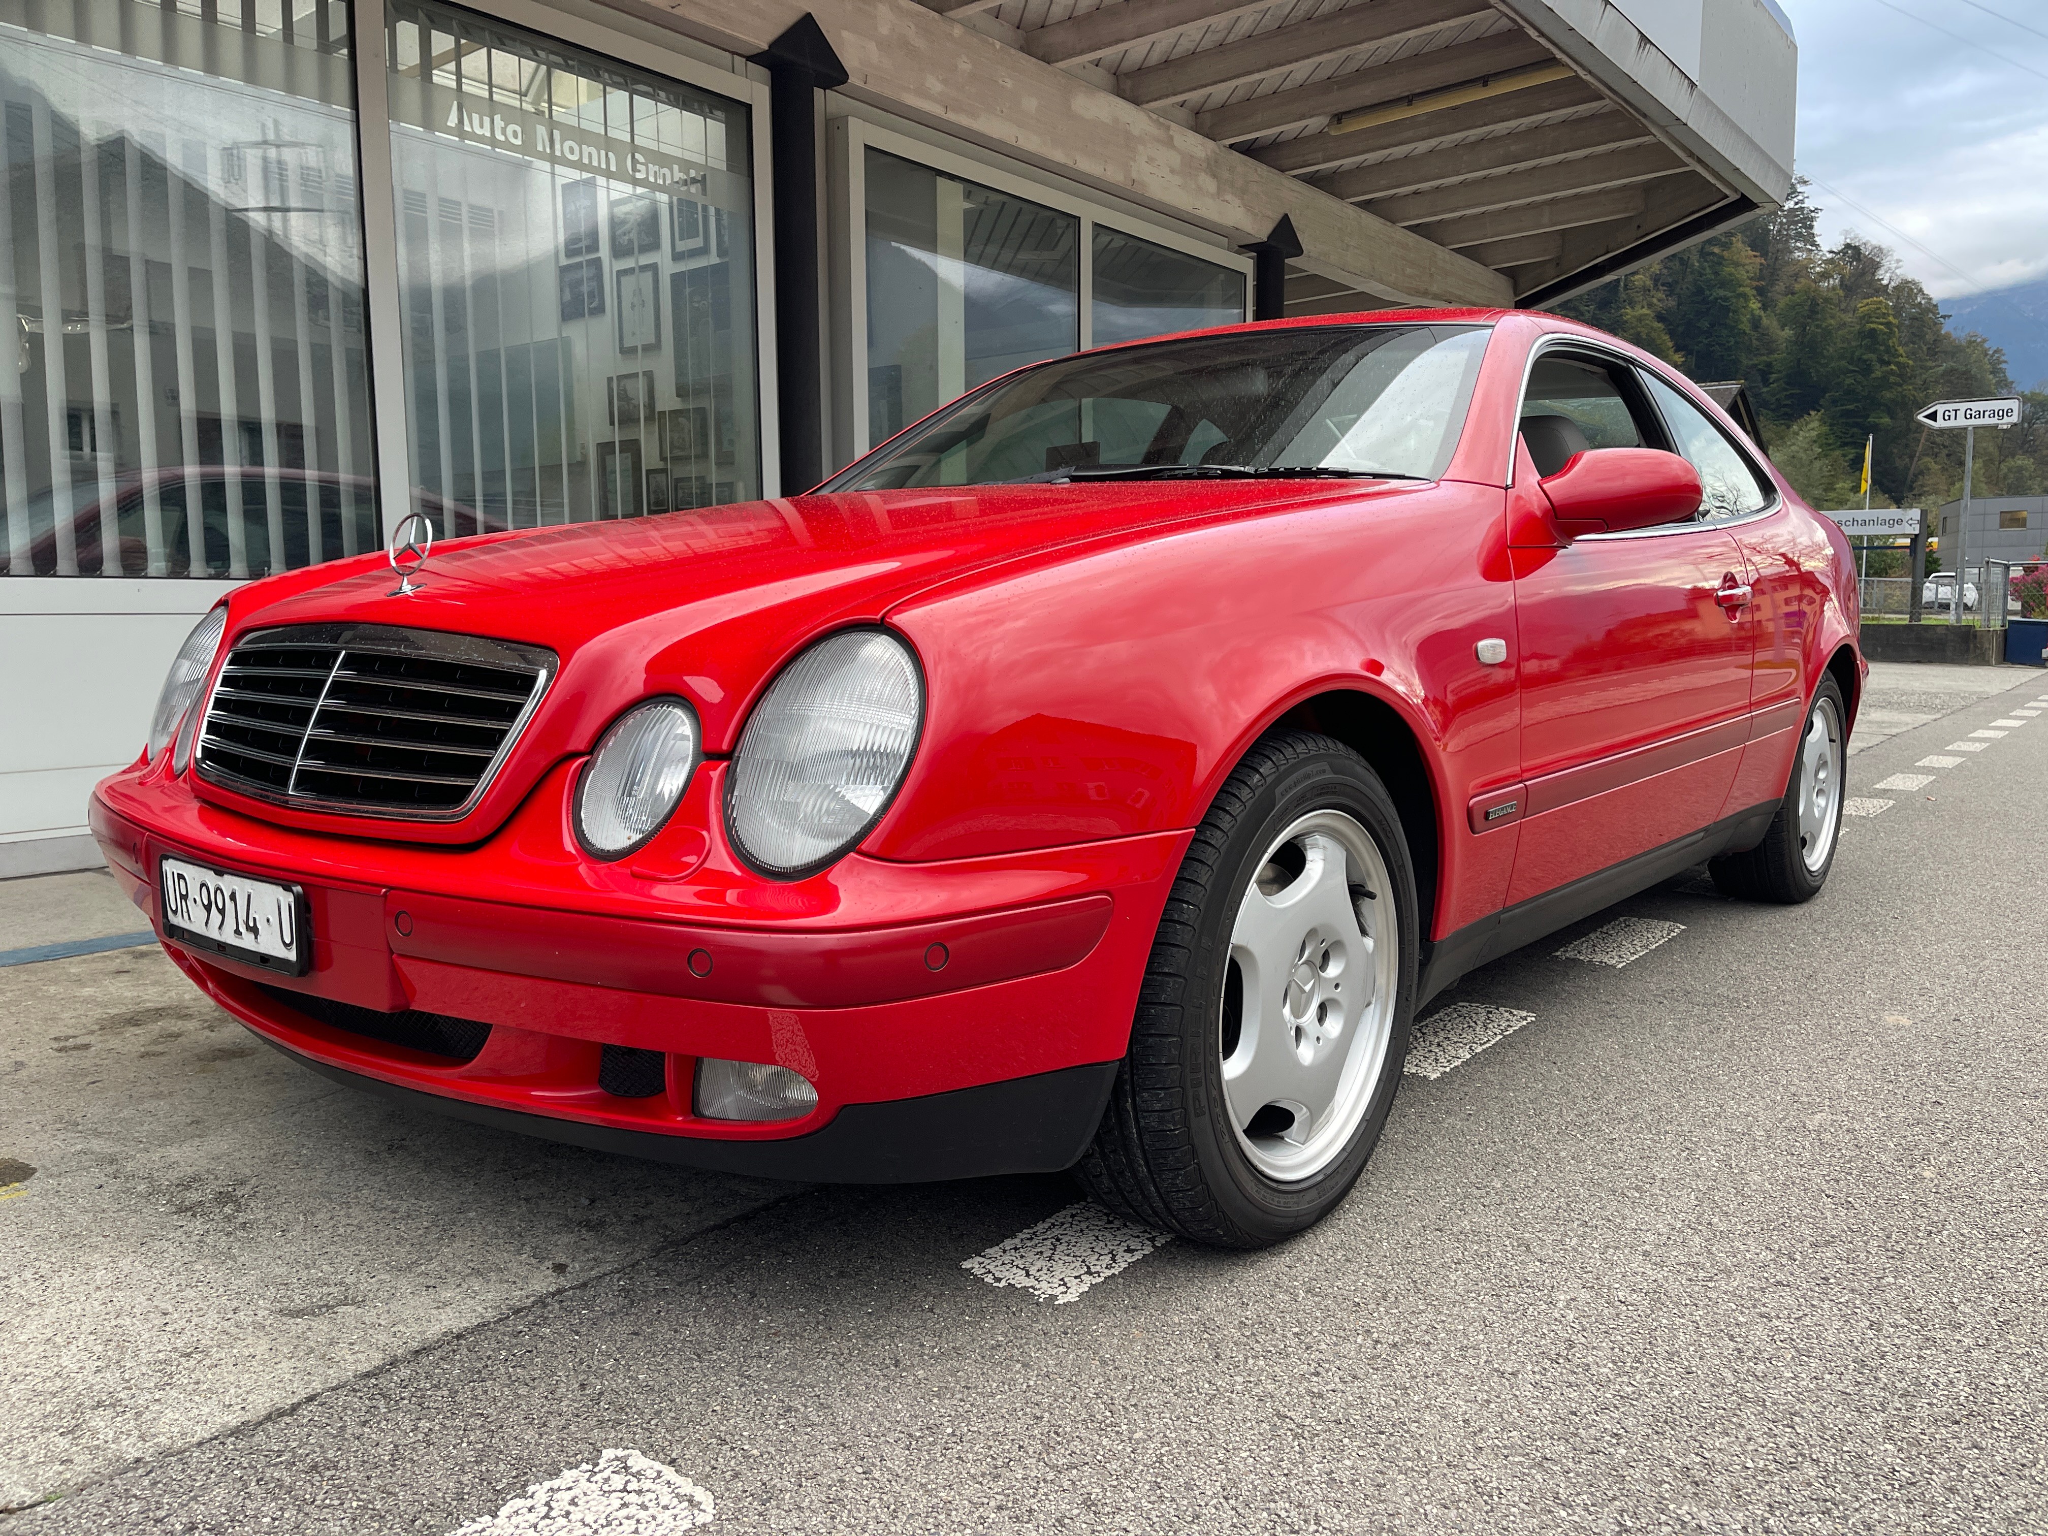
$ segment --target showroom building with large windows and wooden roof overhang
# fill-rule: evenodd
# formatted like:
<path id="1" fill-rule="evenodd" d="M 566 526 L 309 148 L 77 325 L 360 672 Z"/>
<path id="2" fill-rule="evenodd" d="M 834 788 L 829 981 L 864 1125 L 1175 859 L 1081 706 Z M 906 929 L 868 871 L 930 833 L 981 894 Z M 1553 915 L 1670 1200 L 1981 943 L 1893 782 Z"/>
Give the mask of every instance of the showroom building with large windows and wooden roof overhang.
<path id="1" fill-rule="evenodd" d="M 1772 0 L 0 0 L 0 877 L 233 584 L 795 494 L 1006 369 L 1774 207 Z M 0 944 L 4 946 L 4 944 Z"/>

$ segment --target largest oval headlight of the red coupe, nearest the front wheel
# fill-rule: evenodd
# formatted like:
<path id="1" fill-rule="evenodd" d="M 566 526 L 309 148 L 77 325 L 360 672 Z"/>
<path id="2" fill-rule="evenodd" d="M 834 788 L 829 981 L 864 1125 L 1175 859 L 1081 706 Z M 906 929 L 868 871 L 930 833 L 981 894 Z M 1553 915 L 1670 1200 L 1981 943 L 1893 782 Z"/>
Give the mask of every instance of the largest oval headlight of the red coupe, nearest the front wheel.
<path id="1" fill-rule="evenodd" d="M 821 639 L 754 709 L 725 791 L 739 852 L 776 874 L 809 872 L 881 821 L 924 719 L 909 647 L 879 629 Z"/>

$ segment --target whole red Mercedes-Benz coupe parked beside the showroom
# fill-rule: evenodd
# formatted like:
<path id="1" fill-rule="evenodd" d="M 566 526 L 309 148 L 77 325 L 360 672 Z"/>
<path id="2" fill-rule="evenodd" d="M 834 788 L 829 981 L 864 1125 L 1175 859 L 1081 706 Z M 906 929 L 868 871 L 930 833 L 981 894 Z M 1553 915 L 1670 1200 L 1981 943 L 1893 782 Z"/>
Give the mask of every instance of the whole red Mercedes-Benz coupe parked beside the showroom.
<path id="1" fill-rule="evenodd" d="M 410 563 L 410 561 L 408 561 Z M 92 825 L 317 1071 L 807 1180 L 1077 1167 L 1251 1247 L 1415 1010 L 1700 860 L 1827 879 L 1841 532 L 1585 326 L 1040 362 L 809 496 L 238 590 Z"/>

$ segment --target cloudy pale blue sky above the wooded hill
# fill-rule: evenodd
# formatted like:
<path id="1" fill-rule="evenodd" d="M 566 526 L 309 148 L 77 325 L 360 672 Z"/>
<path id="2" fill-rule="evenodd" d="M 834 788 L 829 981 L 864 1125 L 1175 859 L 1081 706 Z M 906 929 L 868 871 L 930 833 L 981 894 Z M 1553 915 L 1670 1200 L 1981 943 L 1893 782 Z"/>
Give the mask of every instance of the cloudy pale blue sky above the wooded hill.
<path id="1" fill-rule="evenodd" d="M 2048 4 L 1780 4 L 1823 238 L 1890 246 L 1937 297 L 2048 276 Z"/>

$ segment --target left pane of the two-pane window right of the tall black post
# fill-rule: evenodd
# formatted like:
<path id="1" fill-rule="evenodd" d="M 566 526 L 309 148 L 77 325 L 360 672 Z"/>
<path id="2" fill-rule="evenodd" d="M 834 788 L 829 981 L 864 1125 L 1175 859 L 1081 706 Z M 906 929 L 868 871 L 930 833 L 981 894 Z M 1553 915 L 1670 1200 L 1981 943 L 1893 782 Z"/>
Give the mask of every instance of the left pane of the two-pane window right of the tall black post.
<path id="1" fill-rule="evenodd" d="M 1081 221 L 866 152 L 868 440 L 1079 346 Z"/>

